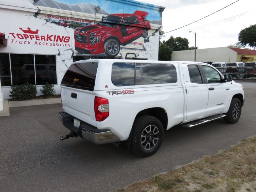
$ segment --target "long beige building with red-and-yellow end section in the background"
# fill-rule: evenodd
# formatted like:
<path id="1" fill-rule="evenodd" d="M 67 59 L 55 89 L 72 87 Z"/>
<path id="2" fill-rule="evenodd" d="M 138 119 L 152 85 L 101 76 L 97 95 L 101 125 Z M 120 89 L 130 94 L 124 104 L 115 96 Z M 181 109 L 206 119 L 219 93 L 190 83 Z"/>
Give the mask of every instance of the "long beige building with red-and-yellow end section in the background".
<path id="1" fill-rule="evenodd" d="M 194 61 L 195 50 L 172 52 L 173 61 Z M 197 49 L 196 61 L 235 62 L 256 61 L 256 50 L 238 49 L 229 47 Z"/>

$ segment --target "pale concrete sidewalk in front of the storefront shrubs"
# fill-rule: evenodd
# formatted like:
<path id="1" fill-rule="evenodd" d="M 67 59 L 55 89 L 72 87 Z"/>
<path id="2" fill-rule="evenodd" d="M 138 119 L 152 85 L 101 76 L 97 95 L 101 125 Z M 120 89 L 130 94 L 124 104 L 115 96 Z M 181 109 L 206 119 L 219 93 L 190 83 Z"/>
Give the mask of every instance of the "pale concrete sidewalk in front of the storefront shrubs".
<path id="1" fill-rule="evenodd" d="M 3 101 L 4 110 L 0 111 L 0 117 L 10 116 L 9 108 L 12 108 L 12 107 L 46 105 L 46 104 L 54 104 L 54 103 L 61 103 L 61 98 L 33 99 L 33 100 L 27 100 L 27 101 L 8 101 L 7 99 L 4 99 Z"/>

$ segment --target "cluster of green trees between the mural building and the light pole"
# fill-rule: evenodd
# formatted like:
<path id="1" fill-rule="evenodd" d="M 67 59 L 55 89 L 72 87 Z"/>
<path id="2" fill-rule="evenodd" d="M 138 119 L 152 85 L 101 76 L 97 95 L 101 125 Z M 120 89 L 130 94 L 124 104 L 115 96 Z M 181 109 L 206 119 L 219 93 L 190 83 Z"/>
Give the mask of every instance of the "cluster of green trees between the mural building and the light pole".
<path id="1" fill-rule="evenodd" d="M 172 49 L 172 51 L 188 50 L 189 42 L 187 38 L 171 36 L 167 41 L 163 41 L 165 45 Z"/>

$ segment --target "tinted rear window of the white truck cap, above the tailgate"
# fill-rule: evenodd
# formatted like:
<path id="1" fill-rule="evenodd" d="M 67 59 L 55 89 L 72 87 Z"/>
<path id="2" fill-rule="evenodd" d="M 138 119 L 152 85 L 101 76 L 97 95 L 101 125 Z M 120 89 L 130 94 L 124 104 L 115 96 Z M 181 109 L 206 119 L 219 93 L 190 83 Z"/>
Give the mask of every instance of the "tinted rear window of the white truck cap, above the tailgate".
<path id="1" fill-rule="evenodd" d="M 93 91 L 98 62 L 72 64 L 65 73 L 61 85 Z"/>

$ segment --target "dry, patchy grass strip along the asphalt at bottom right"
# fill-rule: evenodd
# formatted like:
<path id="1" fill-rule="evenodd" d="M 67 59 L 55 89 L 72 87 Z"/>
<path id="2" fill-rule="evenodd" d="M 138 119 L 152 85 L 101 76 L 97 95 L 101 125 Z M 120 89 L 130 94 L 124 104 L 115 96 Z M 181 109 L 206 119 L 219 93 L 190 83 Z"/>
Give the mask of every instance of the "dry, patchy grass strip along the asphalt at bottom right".
<path id="1" fill-rule="evenodd" d="M 256 137 L 195 163 L 118 189 L 117 192 L 256 191 Z M 246 185 L 245 185 L 246 184 Z M 245 187 L 246 186 L 246 187 Z M 125 189 L 125 190 L 124 190 Z"/>

